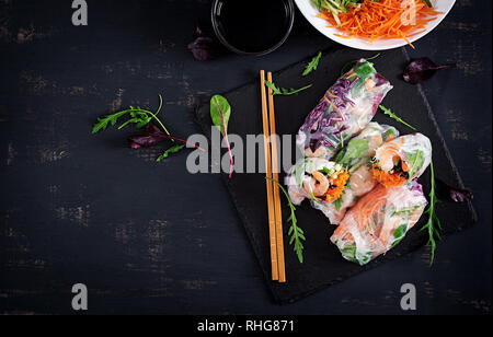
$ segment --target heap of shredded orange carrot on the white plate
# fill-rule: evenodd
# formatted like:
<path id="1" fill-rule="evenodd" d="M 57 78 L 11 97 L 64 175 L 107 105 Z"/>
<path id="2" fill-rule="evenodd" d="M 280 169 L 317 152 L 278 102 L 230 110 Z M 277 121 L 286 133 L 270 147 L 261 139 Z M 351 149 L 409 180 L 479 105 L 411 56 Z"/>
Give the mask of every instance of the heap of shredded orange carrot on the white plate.
<path id="1" fill-rule="evenodd" d="M 409 38 L 424 32 L 425 25 L 442 12 L 428 8 L 422 0 L 410 0 L 408 7 L 402 3 L 402 0 L 364 0 L 359 7 L 340 13 L 340 23 L 324 10 L 318 16 L 328 21 L 330 27 L 341 31 L 334 35 L 342 38 L 359 37 L 369 42 L 402 38 L 414 48 Z M 415 20 L 408 23 L 411 11 L 414 11 Z"/>

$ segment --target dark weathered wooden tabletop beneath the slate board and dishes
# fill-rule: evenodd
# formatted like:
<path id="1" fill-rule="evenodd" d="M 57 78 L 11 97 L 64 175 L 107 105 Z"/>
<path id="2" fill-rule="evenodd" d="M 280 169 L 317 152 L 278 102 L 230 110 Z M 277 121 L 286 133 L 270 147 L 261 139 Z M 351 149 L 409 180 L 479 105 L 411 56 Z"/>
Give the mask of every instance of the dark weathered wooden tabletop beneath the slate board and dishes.
<path id="1" fill-rule="evenodd" d="M 71 287 L 90 313 L 400 314 L 416 284 L 420 314 L 491 314 L 491 1 L 459 0 L 411 50 L 457 62 L 424 84 L 480 221 L 429 249 L 365 272 L 293 305 L 273 304 L 220 178 L 190 175 L 186 155 L 126 148 L 127 131 L 91 136 L 96 117 L 156 106 L 179 136 L 198 132 L 199 100 L 278 70 L 332 43 L 297 12 L 295 30 L 264 57 L 195 61 L 195 20 L 210 1 L 70 1 L 0 4 L 0 314 L 70 314 Z M 446 224 L 445 224 L 446 225 Z"/>

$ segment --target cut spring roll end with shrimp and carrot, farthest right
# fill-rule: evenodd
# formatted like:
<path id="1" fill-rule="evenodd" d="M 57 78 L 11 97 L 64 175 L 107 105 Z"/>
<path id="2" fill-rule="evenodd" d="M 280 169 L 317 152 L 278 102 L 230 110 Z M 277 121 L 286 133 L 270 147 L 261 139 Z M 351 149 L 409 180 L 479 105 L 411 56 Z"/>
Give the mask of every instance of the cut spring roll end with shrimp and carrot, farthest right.
<path id="1" fill-rule="evenodd" d="M 426 171 L 432 152 L 432 142 L 421 133 L 388 141 L 375 154 L 372 175 L 386 187 L 404 185 Z"/>

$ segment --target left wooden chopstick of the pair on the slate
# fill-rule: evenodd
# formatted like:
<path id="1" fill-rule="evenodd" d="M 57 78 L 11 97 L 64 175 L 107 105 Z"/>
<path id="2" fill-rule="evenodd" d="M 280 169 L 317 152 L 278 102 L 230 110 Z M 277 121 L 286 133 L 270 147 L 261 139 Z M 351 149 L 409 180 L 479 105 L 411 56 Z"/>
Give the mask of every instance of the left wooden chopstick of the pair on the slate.
<path id="1" fill-rule="evenodd" d="M 279 280 L 279 269 L 277 264 L 277 240 L 276 240 L 276 213 L 274 208 L 274 183 L 271 181 L 272 175 L 272 156 L 271 143 L 268 141 L 268 111 L 267 111 L 267 94 L 265 89 L 265 71 L 261 71 L 261 95 L 262 95 L 262 119 L 264 125 L 264 150 L 265 150 L 265 165 L 266 165 L 266 186 L 267 186 L 267 208 L 268 208 L 268 233 L 271 242 L 271 263 L 272 263 L 272 279 Z"/>

